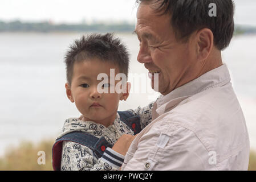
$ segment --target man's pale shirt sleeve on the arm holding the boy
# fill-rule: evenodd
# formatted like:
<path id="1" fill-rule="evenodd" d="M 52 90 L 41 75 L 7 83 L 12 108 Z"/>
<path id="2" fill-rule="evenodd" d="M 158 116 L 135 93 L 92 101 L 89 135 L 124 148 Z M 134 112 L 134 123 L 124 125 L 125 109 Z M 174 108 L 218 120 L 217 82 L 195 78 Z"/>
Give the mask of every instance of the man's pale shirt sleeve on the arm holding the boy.
<path id="1" fill-rule="evenodd" d="M 216 170 L 193 131 L 177 124 L 160 122 L 130 148 L 122 170 Z"/>

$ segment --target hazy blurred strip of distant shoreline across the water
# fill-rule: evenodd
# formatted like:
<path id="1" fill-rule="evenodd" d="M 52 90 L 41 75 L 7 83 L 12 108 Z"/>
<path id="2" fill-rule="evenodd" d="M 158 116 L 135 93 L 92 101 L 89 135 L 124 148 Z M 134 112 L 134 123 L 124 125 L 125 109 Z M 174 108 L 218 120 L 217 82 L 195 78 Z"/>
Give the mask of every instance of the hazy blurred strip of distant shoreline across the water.
<path id="1" fill-rule="evenodd" d="M 28 23 L 15 20 L 13 22 L 3 22 L 0 20 L 1 32 L 42 32 L 42 33 L 80 33 L 80 32 L 133 32 L 135 24 L 120 23 L 78 23 L 78 24 L 54 24 L 51 22 Z M 256 34 L 256 27 L 235 24 L 234 35 Z"/>

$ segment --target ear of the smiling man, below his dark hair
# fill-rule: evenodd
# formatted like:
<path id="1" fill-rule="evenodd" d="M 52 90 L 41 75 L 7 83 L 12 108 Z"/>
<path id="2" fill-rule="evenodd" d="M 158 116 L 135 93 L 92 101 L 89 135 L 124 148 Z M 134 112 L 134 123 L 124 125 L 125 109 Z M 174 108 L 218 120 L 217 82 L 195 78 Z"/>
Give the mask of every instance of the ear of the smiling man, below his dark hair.
<path id="1" fill-rule="evenodd" d="M 213 48 L 213 32 L 209 28 L 202 28 L 196 34 L 197 59 L 206 60 Z"/>

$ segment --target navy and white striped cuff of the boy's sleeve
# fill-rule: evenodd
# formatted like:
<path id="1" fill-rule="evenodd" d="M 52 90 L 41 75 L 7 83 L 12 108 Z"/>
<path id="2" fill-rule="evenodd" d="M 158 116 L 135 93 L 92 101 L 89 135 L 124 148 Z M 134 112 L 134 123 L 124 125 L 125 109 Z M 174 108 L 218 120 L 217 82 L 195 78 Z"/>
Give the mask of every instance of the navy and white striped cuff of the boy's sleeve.
<path id="1" fill-rule="evenodd" d="M 117 169 L 119 169 L 124 162 L 124 156 L 109 147 L 106 148 L 104 154 L 101 156 L 100 159 Z"/>

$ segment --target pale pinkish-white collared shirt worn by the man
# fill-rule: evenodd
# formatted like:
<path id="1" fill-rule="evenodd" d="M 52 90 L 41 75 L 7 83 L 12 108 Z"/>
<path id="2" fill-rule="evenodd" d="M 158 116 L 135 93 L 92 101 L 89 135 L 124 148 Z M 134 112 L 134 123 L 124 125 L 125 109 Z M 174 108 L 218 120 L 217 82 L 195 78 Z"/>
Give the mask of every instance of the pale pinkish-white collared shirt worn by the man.
<path id="1" fill-rule="evenodd" d="M 247 170 L 249 135 L 226 64 L 157 100 L 123 170 Z"/>

